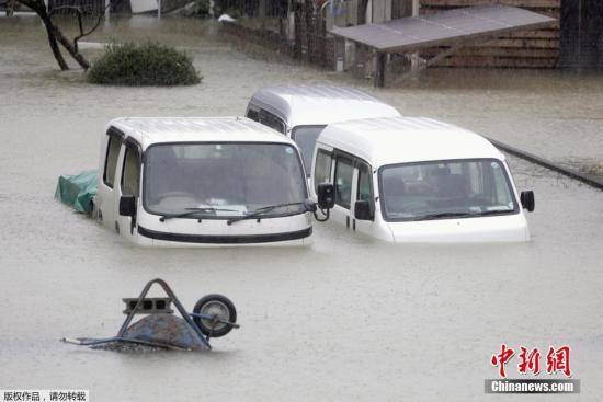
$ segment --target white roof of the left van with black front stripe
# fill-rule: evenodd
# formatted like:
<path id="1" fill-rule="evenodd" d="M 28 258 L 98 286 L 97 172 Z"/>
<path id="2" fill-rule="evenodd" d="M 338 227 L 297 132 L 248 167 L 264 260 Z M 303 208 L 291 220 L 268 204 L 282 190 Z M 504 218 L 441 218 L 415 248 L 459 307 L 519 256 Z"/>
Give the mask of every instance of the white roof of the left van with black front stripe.
<path id="1" fill-rule="evenodd" d="M 120 117 L 111 120 L 143 149 L 157 142 L 294 142 L 247 117 Z"/>

